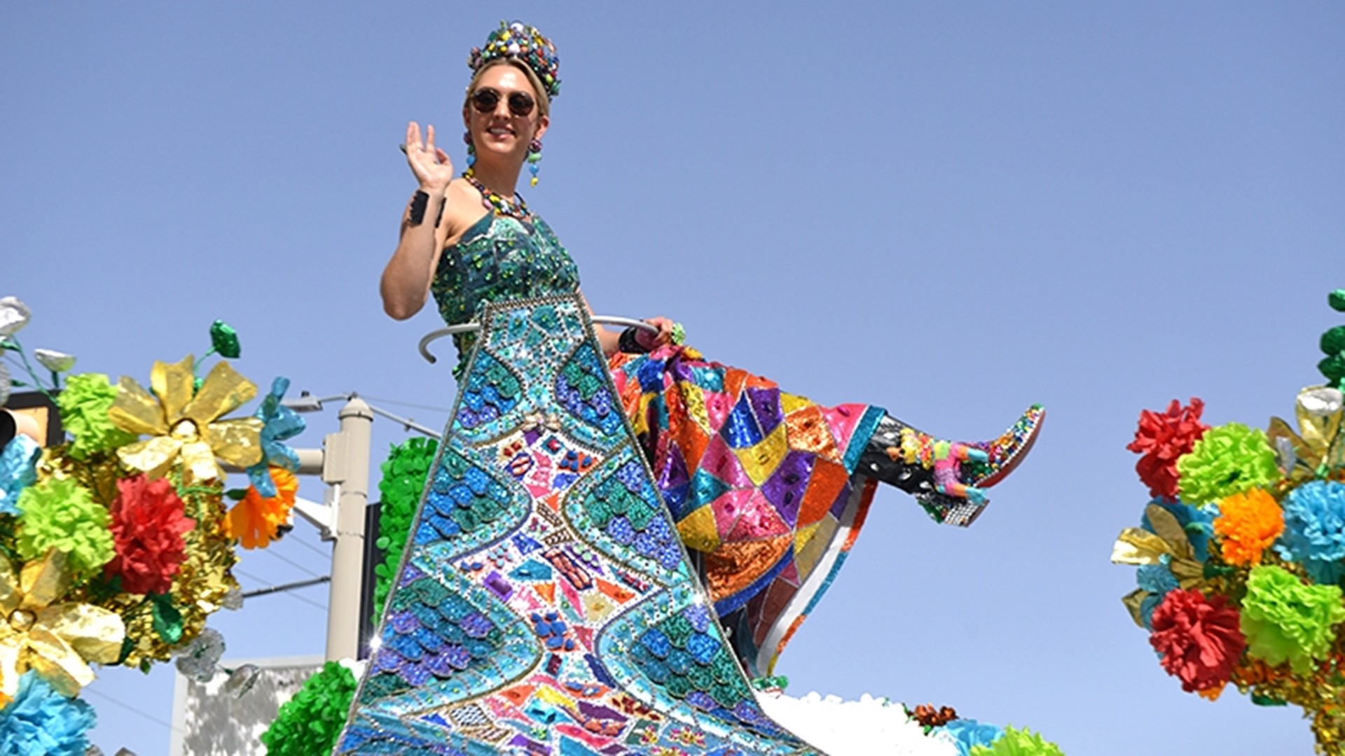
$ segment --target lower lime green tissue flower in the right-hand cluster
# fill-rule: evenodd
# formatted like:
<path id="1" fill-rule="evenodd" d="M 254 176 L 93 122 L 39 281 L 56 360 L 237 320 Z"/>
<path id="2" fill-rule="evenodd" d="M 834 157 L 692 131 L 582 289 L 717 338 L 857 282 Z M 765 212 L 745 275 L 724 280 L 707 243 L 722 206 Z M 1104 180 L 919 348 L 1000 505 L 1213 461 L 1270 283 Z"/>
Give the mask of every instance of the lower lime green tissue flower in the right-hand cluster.
<path id="1" fill-rule="evenodd" d="M 1290 663 L 1309 674 L 1336 640 L 1334 626 L 1345 621 L 1337 585 L 1305 585 L 1284 568 L 1263 565 L 1247 577 L 1243 635 L 1247 652 L 1268 665 Z"/>

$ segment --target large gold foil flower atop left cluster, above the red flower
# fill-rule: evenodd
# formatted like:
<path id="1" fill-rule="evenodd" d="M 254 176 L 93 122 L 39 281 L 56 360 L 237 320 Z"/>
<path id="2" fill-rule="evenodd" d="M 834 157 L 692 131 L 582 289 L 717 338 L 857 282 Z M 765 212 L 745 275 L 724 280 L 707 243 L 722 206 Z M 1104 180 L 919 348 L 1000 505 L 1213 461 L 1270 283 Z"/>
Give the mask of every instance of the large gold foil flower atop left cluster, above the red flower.
<path id="1" fill-rule="evenodd" d="M 117 449 L 122 463 L 149 478 L 163 478 L 180 461 L 183 480 L 191 486 L 221 478 L 215 457 L 238 467 L 261 460 L 261 420 L 219 420 L 256 397 L 257 385 L 227 362 L 217 363 L 195 393 L 194 381 L 192 355 L 175 365 L 155 362 L 149 373 L 153 394 L 121 377 L 109 420 L 122 430 L 152 436 Z"/>

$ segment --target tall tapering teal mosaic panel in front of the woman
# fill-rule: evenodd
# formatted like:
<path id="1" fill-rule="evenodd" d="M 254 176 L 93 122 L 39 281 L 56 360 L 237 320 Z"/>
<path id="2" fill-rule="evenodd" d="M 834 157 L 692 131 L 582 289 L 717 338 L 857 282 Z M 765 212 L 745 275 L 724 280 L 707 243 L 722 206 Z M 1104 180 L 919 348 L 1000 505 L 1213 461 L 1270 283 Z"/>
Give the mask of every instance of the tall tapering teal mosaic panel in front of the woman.
<path id="1" fill-rule="evenodd" d="M 336 752 L 815 755 L 714 621 L 582 301 L 482 323 Z"/>

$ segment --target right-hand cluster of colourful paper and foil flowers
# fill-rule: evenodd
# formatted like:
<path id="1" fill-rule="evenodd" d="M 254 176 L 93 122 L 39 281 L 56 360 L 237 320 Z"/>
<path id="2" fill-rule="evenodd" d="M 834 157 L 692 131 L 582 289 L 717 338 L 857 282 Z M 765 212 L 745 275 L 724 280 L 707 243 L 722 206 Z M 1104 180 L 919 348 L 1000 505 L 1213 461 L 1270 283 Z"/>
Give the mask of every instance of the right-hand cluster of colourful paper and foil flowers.
<path id="1" fill-rule="evenodd" d="M 1318 751 L 1345 755 L 1345 326 L 1321 346 L 1329 383 L 1293 425 L 1210 428 L 1194 398 L 1141 413 L 1127 448 L 1151 500 L 1112 561 L 1138 566 L 1124 604 L 1182 690 L 1302 706 Z"/>

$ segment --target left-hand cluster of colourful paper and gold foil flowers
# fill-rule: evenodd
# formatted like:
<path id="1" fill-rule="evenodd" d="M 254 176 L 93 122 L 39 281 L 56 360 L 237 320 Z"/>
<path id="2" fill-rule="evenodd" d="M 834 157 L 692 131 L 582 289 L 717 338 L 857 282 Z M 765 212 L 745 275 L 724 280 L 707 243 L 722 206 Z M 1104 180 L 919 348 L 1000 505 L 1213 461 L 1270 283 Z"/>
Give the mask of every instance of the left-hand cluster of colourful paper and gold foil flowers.
<path id="1" fill-rule="evenodd" d="M 256 413 L 231 416 L 257 386 L 230 365 L 238 335 L 222 322 L 204 356 L 156 362 L 147 389 L 66 375 L 75 358 L 54 350 L 34 350 L 36 369 L 17 336 L 30 319 L 0 299 L 0 408 L 15 389 L 42 393 L 65 437 L 44 448 L 17 433 L 0 451 L 0 753 L 83 753 L 93 665 L 176 656 L 183 674 L 214 677 L 225 646 L 206 619 L 242 604 L 234 546 L 284 527 L 297 469 L 284 441 L 304 424 L 280 404 L 284 378 Z M 221 463 L 249 486 L 227 490 Z M 257 670 L 226 671 L 241 693 Z"/>

